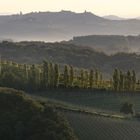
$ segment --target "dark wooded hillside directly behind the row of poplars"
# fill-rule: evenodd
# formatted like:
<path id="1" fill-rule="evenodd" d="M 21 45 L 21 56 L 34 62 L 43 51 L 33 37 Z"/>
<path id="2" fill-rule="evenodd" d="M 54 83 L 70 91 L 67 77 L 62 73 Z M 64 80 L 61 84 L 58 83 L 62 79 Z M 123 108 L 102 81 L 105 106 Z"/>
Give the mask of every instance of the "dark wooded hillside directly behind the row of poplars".
<path id="1" fill-rule="evenodd" d="M 99 68 L 105 77 L 109 77 L 115 67 L 127 71 L 132 68 L 140 77 L 140 56 L 136 54 L 118 53 L 105 55 L 91 48 L 84 48 L 66 43 L 44 42 L 2 42 L 0 43 L 0 55 L 3 60 L 11 60 L 18 63 L 41 63 L 49 61 L 69 64 L 80 68 Z"/>

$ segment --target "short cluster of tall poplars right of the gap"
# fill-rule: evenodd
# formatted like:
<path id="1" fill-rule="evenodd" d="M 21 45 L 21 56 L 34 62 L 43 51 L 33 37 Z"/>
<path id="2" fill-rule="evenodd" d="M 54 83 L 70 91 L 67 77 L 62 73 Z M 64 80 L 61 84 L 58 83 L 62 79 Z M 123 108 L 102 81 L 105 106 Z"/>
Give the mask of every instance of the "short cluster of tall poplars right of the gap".
<path id="1" fill-rule="evenodd" d="M 136 90 L 136 73 L 134 70 L 122 72 L 115 69 L 113 73 L 113 87 L 116 91 L 135 91 Z"/>

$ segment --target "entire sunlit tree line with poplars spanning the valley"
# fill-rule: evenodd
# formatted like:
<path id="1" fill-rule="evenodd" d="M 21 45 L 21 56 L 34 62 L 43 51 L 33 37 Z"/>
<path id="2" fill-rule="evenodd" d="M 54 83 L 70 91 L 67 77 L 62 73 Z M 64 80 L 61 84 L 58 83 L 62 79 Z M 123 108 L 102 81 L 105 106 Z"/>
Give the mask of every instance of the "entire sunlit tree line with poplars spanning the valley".
<path id="1" fill-rule="evenodd" d="M 42 64 L 18 64 L 0 62 L 0 86 L 16 89 L 45 90 L 52 88 L 136 90 L 136 74 L 133 70 L 123 73 L 115 69 L 112 81 L 103 79 L 98 69 L 78 69 L 49 61 Z"/>

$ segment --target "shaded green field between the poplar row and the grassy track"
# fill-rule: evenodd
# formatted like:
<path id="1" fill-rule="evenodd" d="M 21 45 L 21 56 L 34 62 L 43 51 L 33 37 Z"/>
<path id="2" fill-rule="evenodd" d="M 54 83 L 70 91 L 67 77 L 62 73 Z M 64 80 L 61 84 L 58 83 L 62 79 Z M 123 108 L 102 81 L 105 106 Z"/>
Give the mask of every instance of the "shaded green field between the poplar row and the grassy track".
<path id="1" fill-rule="evenodd" d="M 101 111 L 119 113 L 122 103 L 128 101 L 134 104 L 140 112 L 139 93 L 109 93 L 107 91 L 53 91 L 39 93 L 43 97 L 63 101 L 81 107 L 94 108 Z"/>

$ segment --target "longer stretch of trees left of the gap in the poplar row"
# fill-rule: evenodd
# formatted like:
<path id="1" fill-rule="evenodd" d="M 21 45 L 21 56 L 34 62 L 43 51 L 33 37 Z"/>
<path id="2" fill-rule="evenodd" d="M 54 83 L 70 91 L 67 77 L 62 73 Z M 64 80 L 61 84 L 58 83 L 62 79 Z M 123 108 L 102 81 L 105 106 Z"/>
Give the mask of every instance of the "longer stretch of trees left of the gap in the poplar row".
<path id="1" fill-rule="evenodd" d="M 99 88 L 102 73 L 99 70 L 59 66 L 48 61 L 40 65 L 0 62 L 0 86 L 18 89 Z"/>

